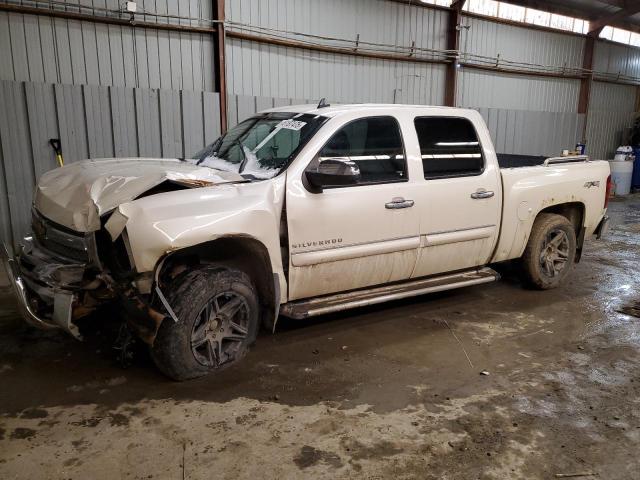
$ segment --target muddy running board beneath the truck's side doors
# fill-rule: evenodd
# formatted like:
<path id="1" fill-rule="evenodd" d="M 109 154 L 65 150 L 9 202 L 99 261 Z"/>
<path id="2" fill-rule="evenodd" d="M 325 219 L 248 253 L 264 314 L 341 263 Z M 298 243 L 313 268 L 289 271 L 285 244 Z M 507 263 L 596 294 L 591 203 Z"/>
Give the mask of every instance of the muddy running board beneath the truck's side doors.
<path id="1" fill-rule="evenodd" d="M 500 274 L 489 267 L 477 270 L 466 270 L 448 275 L 411 280 L 403 283 L 383 285 L 381 287 L 355 290 L 348 293 L 338 293 L 324 297 L 305 300 L 295 300 L 282 305 L 280 313 L 285 317 L 302 319 L 339 312 L 350 308 L 364 307 L 376 303 L 398 300 L 400 298 L 415 297 L 425 293 L 441 292 L 454 288 L 468 287 L 479 283 L 495 282 Z"/>

